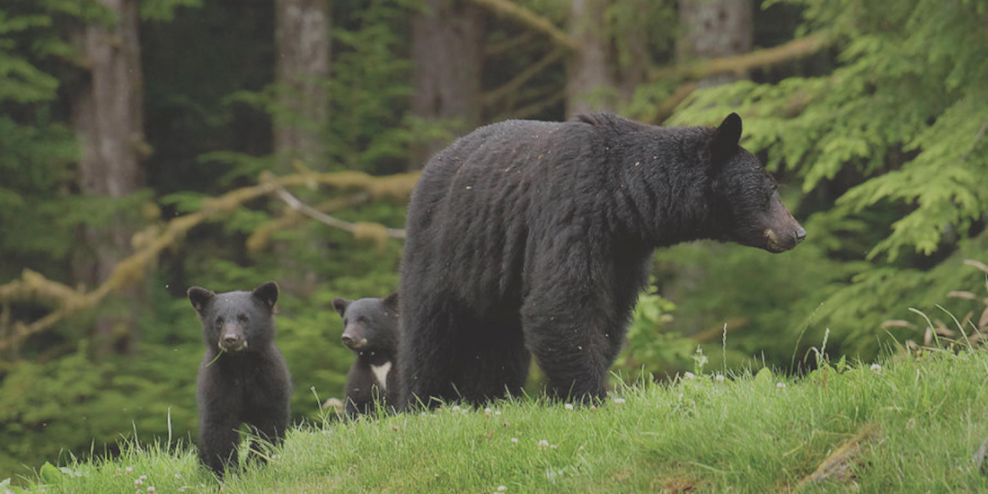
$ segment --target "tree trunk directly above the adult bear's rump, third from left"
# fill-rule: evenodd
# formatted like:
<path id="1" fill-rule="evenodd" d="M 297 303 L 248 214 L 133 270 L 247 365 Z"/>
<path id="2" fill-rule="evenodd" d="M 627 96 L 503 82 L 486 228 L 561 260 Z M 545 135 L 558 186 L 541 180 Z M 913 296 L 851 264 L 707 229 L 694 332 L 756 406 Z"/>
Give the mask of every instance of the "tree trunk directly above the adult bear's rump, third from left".
<path id="1" fill-rule="evenodd" d="M 454 134 L 480 124 L 481 76 L 487 31 L 484 11 L 466 0 L 425 0 L 412 18 L 415 95 L 412 113 L 424 121 L 450 121 Z M 412 150 L 410 170 L 448 144 L 428 139 Z"/>

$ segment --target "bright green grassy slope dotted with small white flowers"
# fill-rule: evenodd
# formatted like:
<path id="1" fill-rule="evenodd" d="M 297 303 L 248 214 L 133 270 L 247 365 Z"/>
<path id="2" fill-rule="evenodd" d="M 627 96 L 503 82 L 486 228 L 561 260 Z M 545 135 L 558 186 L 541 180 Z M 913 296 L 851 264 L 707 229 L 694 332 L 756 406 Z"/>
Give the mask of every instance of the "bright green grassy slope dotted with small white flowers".
<path id="1" fill-rule="evenodd" d="M 303 427 L 222 492 L 988 492 L 972 460 L 988 436 L 988 352 L 883 365 L 784 386 L 768 371 L 707 374 L 592 408 L 526 398 Z M 837 462 L 848 475 L 797 487 L 852 438 L 857 454 Z M 143 492 L 217 492 L 191 448 L 163 445 L 45 467 L 26 491 L 134 493 L 140 475 Z"/>

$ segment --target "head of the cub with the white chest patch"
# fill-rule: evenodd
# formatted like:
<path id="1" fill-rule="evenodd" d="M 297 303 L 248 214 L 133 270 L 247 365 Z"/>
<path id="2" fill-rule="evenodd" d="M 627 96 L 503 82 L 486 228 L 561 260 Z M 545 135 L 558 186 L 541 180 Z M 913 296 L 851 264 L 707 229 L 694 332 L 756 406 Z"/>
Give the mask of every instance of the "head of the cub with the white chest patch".
<path id="1" fill-rule="evenodd" d="M 398 347 L 398 292 L 387 298 L 333 299 L 343 318 L 343 344 L 357 353 L 393 353 Z"/>

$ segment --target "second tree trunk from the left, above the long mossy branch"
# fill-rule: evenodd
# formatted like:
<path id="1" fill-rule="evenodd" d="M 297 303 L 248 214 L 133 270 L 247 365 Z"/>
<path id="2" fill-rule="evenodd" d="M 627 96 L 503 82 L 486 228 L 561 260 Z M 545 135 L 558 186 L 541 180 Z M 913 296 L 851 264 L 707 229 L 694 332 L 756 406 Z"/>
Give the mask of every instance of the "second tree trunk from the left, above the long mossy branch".
<path id="1" fill-rule="evenodd" d="M 328 171 L 326 125 L 330 57 L 329 0 L 275 0 L 276 78 L 279 112 L 274 152 L 279 169 L 299 160 Z"/>

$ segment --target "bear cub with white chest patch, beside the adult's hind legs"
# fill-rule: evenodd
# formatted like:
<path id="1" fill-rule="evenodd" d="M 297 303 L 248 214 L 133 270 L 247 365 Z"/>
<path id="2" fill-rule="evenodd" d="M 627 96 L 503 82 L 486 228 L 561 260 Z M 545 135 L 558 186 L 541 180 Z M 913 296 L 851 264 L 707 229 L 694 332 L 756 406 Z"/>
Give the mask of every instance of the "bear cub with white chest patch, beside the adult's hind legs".
<path id="1" fill-rule="evenodd" d="M 333 299 L 343 318 L 343 344 L 356 354 L 346 379 L 346 415 L 350 418 L 398 404 L 398 293 L 387 298 Z"/>

